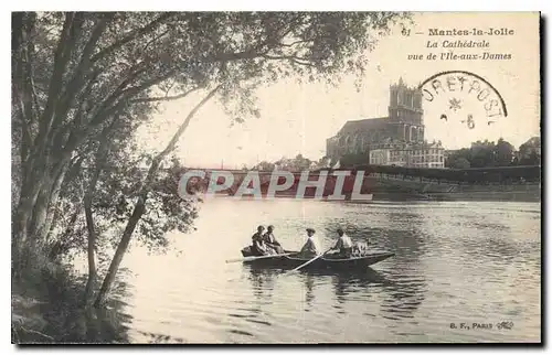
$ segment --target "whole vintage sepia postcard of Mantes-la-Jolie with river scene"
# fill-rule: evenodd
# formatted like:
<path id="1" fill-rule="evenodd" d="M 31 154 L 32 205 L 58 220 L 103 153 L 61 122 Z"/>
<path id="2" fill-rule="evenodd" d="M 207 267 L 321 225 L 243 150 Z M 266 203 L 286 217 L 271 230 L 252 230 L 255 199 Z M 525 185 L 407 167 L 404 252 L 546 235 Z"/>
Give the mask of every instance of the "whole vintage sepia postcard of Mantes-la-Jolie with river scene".
<path id="1" fill-rule="evenodd" d="M 538 12 L 13 12 L 14 344 L 542 342 Z"/>

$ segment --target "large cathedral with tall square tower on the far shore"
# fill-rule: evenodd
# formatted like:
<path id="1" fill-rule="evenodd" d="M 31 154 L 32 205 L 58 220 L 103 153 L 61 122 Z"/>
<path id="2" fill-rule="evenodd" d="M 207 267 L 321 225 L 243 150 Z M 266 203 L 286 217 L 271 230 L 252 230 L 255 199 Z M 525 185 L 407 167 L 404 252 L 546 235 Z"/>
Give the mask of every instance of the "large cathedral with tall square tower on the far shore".
<path id="1" fill-rule="evenodd" d="M 389 116 L 347 121 L 326 141 L 326 155 L 339 159 L 346 154 L 369 153 L 391 144 L 416 144 L 424 141 L 422 92 L 403 79 L 390 86 Z"/>

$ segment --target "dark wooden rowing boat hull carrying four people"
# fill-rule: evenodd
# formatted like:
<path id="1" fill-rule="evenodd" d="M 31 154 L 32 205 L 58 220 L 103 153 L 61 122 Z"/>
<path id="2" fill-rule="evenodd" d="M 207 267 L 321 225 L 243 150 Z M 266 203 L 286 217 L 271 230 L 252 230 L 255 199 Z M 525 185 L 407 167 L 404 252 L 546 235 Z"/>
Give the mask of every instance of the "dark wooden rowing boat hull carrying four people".
<path id="1" fill-rule="evenodd" d="M 286 254 L 291 255 L 274 255 L 273 257 L 247 260 L 244 263 L 264 266 L 267 268 L 282 268 L 282 269 L 294 269 L 311 258 L 305 258 L 299 255 L 298 251 L 285 250 Z M 242 249 L 242 255 L 244 257 L 254 256 L 251 247 L 245 247 Z M 394 256 L 393 252 L 388 251 L 373 251 L 359 257 L 342 258 L 339 256 L 327 255 L 321 258 L 316 259 L 311 263 L 307 265 L 306 269 L 336 269 L 336 270 L 350 270 L 350 269 L 362 269 L 367 268 L 376 262 L 383 261 L 388 258 Z"/>

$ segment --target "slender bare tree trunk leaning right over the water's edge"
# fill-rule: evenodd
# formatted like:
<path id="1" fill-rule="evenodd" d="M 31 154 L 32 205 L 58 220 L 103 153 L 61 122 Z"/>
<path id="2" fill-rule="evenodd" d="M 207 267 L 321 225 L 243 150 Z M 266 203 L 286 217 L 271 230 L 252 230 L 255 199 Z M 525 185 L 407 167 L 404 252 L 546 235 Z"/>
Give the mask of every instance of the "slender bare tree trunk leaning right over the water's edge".
<path id="1" fill-rule="evenodd" d="M 130 244 L 130 239 L 132 237 L 132 233 L 138 225 L 138 222 L 140 220 L 141 216 L 144 215 L 144 212 L 146 211 L 146 201 L 148 198 L 148 192 L 153 183 L 153 179 L 157 175 L 159 171 L 159 166 L 161 165 L 162 160 L 171 152 L 174 150 L 177 147 L 177 142 L 184 132 L 184 130 L 188 128 L 188 125 L 190 125 L 190 120 L 195 116 L 198 110 L 206 103 L 209 101 L 214 94 L 219 90 L 220 86 L 215 87 L 213 90 L 209 93 L 208 96 L 205 96 L 191 111 L 188 114 L 188 117 L 184 119 L 182 125 L 179 127 L 170 142 L 167 144 L 163 151 L 161 151 L 151 162 L 151 166 L 149 168 L 148 171 L 148 176 L 146 178 L 146 182 L 144 183 L 138 202 L 136 203 L 136 206 L 132 211 L 132 215 L 130 216 L 130 219 L 128 219 L 127 226 L 125 228 L 125 232 L 123 233 L 123 237 L 120 238 L 119 245 L 117 246 L 117 250 L 115 251 L 115 256 L 113 257 L 112 263 L 109 265 L 109 269 L 107 270 L 107 275 L 104 279 L 104 282 L 102 283 L 102 288 L 99 289 L 99 293 L 96 298 L 96 301 L 94 302 L 94 306 L 100 308 L 105 304 L 107 297 L 109 294 L 109 291 L 113 287 L 113 282 L 115 281 L 115 276 L 117 275 L 117 271 L 119 269 L 120 262 L 123 261 L 123 257 L 125 256 L 125 252 L 127 251 L 128 245 Z"/>

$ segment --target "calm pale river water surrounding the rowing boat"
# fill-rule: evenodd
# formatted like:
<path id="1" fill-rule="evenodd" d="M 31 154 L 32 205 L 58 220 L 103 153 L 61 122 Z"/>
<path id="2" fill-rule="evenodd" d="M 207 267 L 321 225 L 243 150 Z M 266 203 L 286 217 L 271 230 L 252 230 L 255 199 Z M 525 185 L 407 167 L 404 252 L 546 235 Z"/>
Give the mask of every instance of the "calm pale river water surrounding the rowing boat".
<path id="1" fill-rule="evenodd" d="M 367 272 L 254 269 L 241 257 L 258 224 L 287 249 L 314 226 L 321 247 L 337 226 L 395 252 Z M 540 340 L 540 204 L 230 201 L 203 204 L 182 250 L 132 249 L 124 266 L 131 337 L 150 342 L 500 342 Z M 513 322 L 511 330 L 496 323 Z M 492 323 L 452 330 L 450 323 Z"/>

